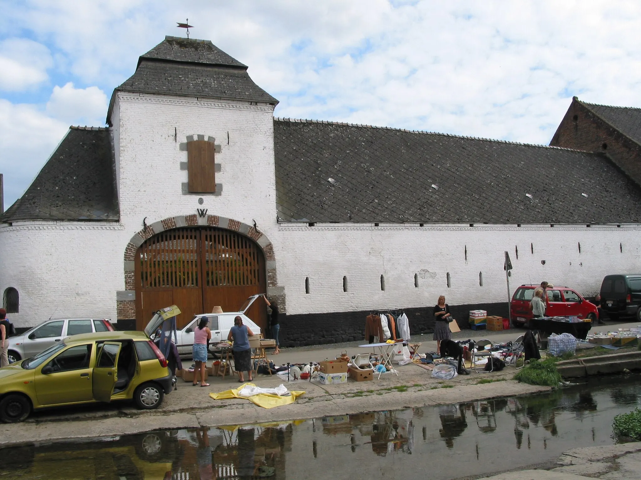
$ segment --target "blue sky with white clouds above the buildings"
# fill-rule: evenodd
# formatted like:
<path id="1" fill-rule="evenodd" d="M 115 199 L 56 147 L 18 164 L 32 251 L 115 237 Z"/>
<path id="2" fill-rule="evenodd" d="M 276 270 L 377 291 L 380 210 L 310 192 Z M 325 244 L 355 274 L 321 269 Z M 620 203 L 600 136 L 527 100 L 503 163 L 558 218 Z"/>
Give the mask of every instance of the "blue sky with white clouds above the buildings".
<path id="1" fill-rule="evenodd" d="M 638 1 L 0 0 L 5 208 L 165 35 L 249 65 L 276 116 L 548 143 L 573 95 L 641 107 Z"/>

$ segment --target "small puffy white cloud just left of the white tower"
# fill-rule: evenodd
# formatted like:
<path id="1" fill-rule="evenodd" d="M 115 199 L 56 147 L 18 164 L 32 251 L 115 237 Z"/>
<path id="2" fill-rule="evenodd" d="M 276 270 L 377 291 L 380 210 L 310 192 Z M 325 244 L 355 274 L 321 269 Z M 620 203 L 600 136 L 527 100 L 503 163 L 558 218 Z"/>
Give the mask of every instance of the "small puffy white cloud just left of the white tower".
<path id="1" fill-rule="evenodd" d="M 107 96 L 97 86 L 74 88 L 72 82 L 54 86 L 47 102 L 47 113 L 70 124 L 99 126 L 104 124 Z"/>

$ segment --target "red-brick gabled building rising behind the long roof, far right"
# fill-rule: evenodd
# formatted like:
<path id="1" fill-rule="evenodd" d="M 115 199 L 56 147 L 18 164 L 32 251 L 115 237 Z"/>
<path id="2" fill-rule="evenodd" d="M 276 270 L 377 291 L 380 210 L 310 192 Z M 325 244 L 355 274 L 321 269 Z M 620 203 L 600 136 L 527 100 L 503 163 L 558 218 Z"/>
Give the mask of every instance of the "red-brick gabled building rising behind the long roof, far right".
<path id="1" fill-rule="evenodd" d="M 550 146 L 606 154 L 641 186 L 641 145 L 629 128 L 637 116 L 641 119 L 641 109 L 592 105 L 574 97 Z"/>

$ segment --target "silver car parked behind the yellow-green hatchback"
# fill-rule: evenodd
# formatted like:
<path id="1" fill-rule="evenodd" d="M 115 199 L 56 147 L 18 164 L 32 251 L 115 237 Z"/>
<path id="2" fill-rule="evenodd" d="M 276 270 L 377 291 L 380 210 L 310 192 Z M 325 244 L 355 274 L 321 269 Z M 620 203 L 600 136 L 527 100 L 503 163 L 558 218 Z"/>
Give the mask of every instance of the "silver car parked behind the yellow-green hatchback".
<path id="1" fill-rule="evenodd" d="M 9 363 L 18 362 L 23 358 L 37 355 L 41 351 L 60 342 L 69 335 L 93 332 L 113 332 L 112 323 L 108 319 L 67 318 L 48 320 L 27 330 L 22 335 L 10 337 L 8 356 Z"/>

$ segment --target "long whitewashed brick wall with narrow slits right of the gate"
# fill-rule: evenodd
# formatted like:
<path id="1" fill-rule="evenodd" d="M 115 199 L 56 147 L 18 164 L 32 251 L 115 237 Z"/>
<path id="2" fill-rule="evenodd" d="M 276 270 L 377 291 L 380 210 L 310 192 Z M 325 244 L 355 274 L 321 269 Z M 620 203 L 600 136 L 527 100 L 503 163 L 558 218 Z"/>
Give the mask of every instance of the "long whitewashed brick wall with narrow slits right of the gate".
<path id="1" fill-rule="evenodd" d="M 434 305 L 439 295 L 445 295 L 452 305 L 506 301 L 505 251 L 510 253 L 514 268 L 511 293 L 518 285 L 546 280 L 590 296 L 599 291 L 605 275 L 641 271 L 640 232 L 638 226 L 624 225 L 317 224 L 281 225 L 278 238 L 273 240 L 279 283 L 287 294 L 287 313 L 307 314 L 425 307 Z M 481 272 L 483 287 L 479 285 Z M 414 286 L 415 274 L 419 275 L 418 288 Z M 381 275 L 385 276 L 385 291 L 381 291 Z M 343 276 L 347 276 L 347 292 L 343 291 Z M 305 293 L 306 277 L 310 279 L 309 294 Z"/>

